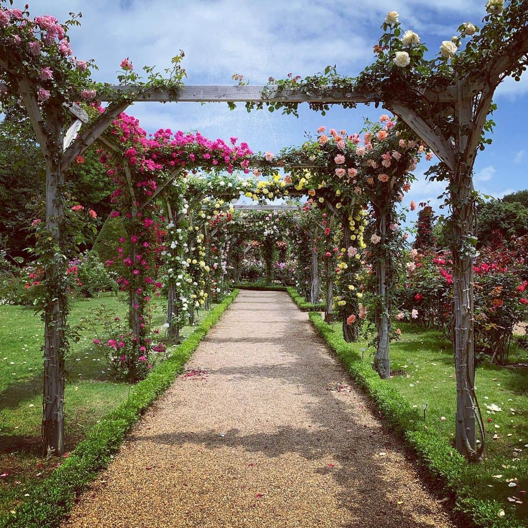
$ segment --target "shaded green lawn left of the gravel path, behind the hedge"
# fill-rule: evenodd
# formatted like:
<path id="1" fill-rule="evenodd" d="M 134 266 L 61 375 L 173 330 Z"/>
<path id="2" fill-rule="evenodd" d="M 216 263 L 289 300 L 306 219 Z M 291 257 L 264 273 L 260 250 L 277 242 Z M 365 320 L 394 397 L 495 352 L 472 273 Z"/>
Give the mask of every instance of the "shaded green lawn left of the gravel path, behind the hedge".
<path id="1" fill-rule="evenodd" d="M 160 328 L 165 322 L 163 301 L 154 303 L 153 322 Z M 116 296 L 76 301 L 69 322 L 77 324 L 82 316 L 105 304 L 119 316 L 126 316 L 127 307 Z M 213 312 L 216 309 L 213 307 Z M 202 310 L 200 318 L 208 319 Z M 188 336 L 193 327 L 183 328 Z M 163 332 L 160 332 L 163 335 Z M 65 387 L 66 449 L 71 451 L 86 437 L 102 417 L 127 400 L 133 386 L 115 382 L 106 372 L 105 358 L 92 347 L 90 332 L 81 334 L 73 343 L 66 367 Z M 188 341 L 188 339 L 186 340 Z M 185 341 L 185 342 L 186 342 Z M 0 306 L 0 519 L 15 511 L 24 496 L 48 477 L 57 460 L 41 459 L 40 427 L 42 419 L 42 351 L 43 327 L 39 316 L 30 308 Z M 169 347 L 175 354 L 179 347 Z M 1 524 L 1 523 L 0 523 Z"/>

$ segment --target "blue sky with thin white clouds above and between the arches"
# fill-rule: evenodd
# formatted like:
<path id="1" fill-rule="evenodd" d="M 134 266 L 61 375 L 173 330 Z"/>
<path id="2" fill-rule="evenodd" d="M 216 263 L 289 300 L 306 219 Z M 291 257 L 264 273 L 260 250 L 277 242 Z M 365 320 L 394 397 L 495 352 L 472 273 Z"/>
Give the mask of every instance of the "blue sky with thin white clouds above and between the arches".
<path id="1" fill-rule="evenodd" d="M 15 0 L 14 5 L 24 3 Z M 398 11 L 402 29 L 416 31 L 432 53 L 461 23 L 480 26 L 486 14 L 485 0 L 34 0 L 30 10 L 34 16 L 52 14 L 61 22 L 69 12 L 82 12 L 82 26 L 70 32 L 72 49 L 79 59 L 96 60 L 96 80 L 115 82 L 119 63 L 127 56 L 135 70 L 155 64 L 162 71 L 183 49 L 188 84 L 232 84 L 235 72 L 251 84 L 265 84 L 270 76 L 284 78 L 292 72 L 304 77 L 328 64 L 355 75 L 372 62 L 372 46 L 388 11 Z M 519 83 L 508 79 L 495 102 L 493 145 L 477 156 L 475 186 L 500 197 L 528 187 L 528 145 L 521 132 L 528 118 L 528 74 Z M 375 119 L 382 113 L 374 107 L 336 107 L 322 117 L 303 105 L 295 118 L 266 110 L 248 114 L 243 105 L 230 111 L 219 103 L 152 102 L 136 103 L 127 112 L 150 132 L 198 129 L 209 137 L 237 136 L 254 151 L 272 152 L 300 144 L 305 131 L 315 133 L 320 125 L 353 133 L 364 117 Z M 436 204 L 443 185 L 425 181 L 427 166 L 419 165 L 418 182 L 406 202 Z"/>

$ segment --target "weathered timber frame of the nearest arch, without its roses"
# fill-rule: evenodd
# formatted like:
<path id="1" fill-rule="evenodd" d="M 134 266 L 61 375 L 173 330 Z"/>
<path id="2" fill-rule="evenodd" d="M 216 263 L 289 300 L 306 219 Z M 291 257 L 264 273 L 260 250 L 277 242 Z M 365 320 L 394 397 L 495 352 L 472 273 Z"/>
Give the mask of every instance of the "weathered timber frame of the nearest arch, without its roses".
<path id="1" fill-rule="evenodd" d="M 378 91 L 337 92 L 331 87 L 321 88 L 320 94 L 307 95 L 302 90 L 279 90 L 276 86 L 186 86 L 174 97 L 168 90 L 144 89 L 137 86 L 116 86 L 115 99 L 97 120 L 78 132 L 85 115 L 74 106 L 75 115 L 67 123 L 63 101 L 50 99 L 41 114 L 37 103 L 36 89 L 29 78 L 17 76 L 17 69 L 8 57 L 0 58 L 0 68 L 8 72 L 17 82 L 22 101 L 31 119 L 35 136 L 40 144 L 46 164 L 46 228 L 54 244 L 61 240 L 62 205 L 58 199 L 64 172 L 76 156 L 82 154 L 111 122 L 134 101 L 181 101 L 181 102 L 314 102 L 314 103 L 370 103 L 384 105 L 398 114 L 409 127 L 435 152 L 450 171 L 450 191 L 454 216 L 456 240 L 465 240 L 473 234 L 473 181 L 472 170 L 476 150 L 489 111 L 493 94 L 498 84 L 510 74 L 521 59 L 528 54 L 528 27 L 519 30 L 508 49 L 492 58 L 477 76 L 458 81 L 444 89 L 416 90 L 409 87 L 400 97 Z M 435 120 L 420 116 L 406 101 L 420 98 L 426 103 L 440 103 L 445 112 Z M 452 115 L 458 132 L 445 137 L 441 125 L 446 115 Z M 476 449 L 475 421 L 479 421 L 478 406 L 474 392 L 474 340 L 473 340 L 473 267 L 470 254 L 454 248 L 455 286 L 455 365 L 457 378 L 456 443 L 457 449 L 470 458 L 480 454 Z M 60 263 L 54 259 L 46 269 L 46 280 L 53 284 L 60 275 Z M 45 448 L 61 455 L 64 451 L 64 364 L 61 355 L 64 343 L 65 306 L 63 301 L 51 296 L 44 313 L 44 415 L 43 437 Z M 481 428 L 482 430 L 482 428 Z M 483 434 L 483 431 L 482 431 Z M 484 438 L 482 441 L 484 445 Z"/>

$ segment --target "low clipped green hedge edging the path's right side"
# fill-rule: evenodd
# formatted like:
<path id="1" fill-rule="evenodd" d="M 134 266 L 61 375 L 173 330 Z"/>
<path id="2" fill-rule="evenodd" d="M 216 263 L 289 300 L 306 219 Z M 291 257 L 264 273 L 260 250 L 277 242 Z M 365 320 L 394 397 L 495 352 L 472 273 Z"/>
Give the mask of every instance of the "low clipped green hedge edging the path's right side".
<path id="1" fill-rule="evenodd" d="M 382 380 L 372 366 L 361 359 L 354 343 L 346 343 L 341 332 L 334 331 L 319 313 L 310 312 L 308 315 L 317 332 L 383 412 L 385 420 L 417 452 L 430 472 L 454 494 L 459 511 L 471 517 L 478 526 L 522 528 L 513 510 L 508 510 L 504 517 L 498 516 L 498 512 L 507 509 L 506 505 L 475 495 L 471 484 L 479 478 L 478 464 L 468 464 L 444 436 L 429 429 L 398 390 Z"/>

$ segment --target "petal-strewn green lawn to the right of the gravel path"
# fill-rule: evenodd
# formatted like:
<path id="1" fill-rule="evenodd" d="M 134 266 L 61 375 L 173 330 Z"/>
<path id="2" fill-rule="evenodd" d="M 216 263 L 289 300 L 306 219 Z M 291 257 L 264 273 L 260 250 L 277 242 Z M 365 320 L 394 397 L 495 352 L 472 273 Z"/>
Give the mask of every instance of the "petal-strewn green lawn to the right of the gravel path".
<path id="1" fill-rule="evenodd" d="M 316 326 L 324 331 L 327 325 L 318 322 Z M 393 376 L 383 383 L 396 389 L 417 411 L 413 418 L 423 420 L 423 406 L 427 404 L 426 427 L 436 430 L 454 446 L 456 382 L 452 345 L 438 332 L 424 331 L 409 324 L 399 326 L 402 330 L 400 341 L 391 343 Z M 327 338 L 334 340 L 332 335 L 341 335 L 340 324 L 334 325 Z M 335 343 L 345 363 L 356 361 L 352 354 L 361 356 L 365 348 L 364 359 L 359 361 L 364 367 L 354 369 L 366 367 L 368 371 L 372 356 L 366 342 L 345 345 L 342 338 L 338 338 Z M 528 352 L 512 345 L 510 363 L 526 364 L 527 360 Z M 528 526 L 528 496 L 525 493 L 528 492 L 528 369 L 525 365 L 497 366 L 485 362 L 477 367 L 475 385 L 485 421 L 485 459 L 478 464 L 464 464 L 451 485 L 456 493 L 460 491 L 467 499 L 461 508 L 479 524 Z M 494 411 L 487 406 L 501 410 Z M 390 412 L 390 403 L 387 408 Z M 403 411 L 402 416 L 405 416 Z M 399 426 L 403 431 L 414 429 L 408 422 Z M 431 454 L 434 460 L 435 448 L 426 449 L 429 453 L 425 456 Z M 455 466 L 445 466 L 446 475 L 451 470 L 455 471 Z M 508 501 L 508 497 L 518 498 L 522 504 Z M 481 501 L 488 502 L 484 505 Z M 500 517 L 503 508 L 506 515 Z"/>

